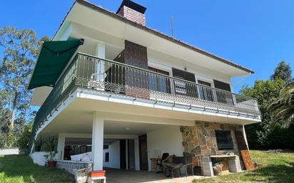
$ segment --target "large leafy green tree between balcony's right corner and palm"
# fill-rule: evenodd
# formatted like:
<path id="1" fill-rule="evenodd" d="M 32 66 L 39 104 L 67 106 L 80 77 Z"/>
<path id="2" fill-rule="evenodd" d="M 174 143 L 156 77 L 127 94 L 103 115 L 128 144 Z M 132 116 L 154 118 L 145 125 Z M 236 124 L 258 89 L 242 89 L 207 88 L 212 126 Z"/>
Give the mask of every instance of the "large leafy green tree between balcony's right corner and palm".
<path id="1" fill-rule="evenodd" d="M 268 111 L 268 106 L 278 98 L 280 90 L 285 85 L 285 81 L 277 78 L 275 80 L 255 80 L 253 87 L 248 85 L 241 88 L 240 93 L 258 100 L 262 121 L 253 125 L 246 125 L 248 144 L 251 148 L 260 149 L 265 147 L 267 135 L 270 131 L 272 114 Z"/>

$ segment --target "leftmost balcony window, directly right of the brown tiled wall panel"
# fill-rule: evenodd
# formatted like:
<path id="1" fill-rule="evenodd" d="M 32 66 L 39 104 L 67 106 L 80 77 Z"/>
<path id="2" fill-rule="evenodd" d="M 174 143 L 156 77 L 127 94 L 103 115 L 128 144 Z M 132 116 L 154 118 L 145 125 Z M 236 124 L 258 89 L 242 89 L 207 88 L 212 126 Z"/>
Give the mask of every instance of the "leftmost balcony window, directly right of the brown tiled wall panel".
<path id="1" fill-rule="evenodd" d="M 156 72 L 156 73 L 161 73 L 163 75 L 169 75 L 169 73 L 164 70 L 159 70 L 157 68 L 151 68 L 151 67 L 149 67 L 148 69 L 153 72 Z M 170 93 L 171 92 L 170 80 L 169 80 L 169 78 L 166 78 L 161 75 L 151 74 L 151 75 L 149 75 L 149 88 L 150 88 L 150 90 L 153 90 L 153 91 Z"/>

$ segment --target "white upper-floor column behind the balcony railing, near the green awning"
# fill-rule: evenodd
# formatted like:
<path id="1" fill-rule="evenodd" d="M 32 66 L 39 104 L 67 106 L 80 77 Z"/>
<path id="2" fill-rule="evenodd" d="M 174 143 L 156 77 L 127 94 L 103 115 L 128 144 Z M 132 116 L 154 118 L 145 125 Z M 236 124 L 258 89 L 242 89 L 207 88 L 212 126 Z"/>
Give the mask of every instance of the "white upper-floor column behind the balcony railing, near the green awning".
<path id="1" fill-rule="evenodd" d="M 104 43 L 97 43 L 96 50 L 95 50 L 95 56 L 98 58 L 105 58 L 105 44 Z M 95 78 L 98 81 L 101 81 L 101 84 L 104 82 L 105 78 L 105 62 L 102 60 L 97 60 L 96 68 L 95 68 Z M 104 86 L 101 85 L 101 88 L 98 89 L 104 89 Z"/>

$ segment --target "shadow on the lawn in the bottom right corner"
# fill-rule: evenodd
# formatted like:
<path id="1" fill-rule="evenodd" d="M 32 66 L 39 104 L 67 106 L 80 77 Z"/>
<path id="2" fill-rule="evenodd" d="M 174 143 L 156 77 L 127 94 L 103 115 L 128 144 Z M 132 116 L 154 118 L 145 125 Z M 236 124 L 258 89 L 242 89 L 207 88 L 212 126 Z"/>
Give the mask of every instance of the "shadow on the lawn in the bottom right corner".
<path id="1" fill-rule="evenodd" d="M 245 177 L 253 177 L 255 182 L 292 183 L 294 182 L 294 162 L 285 162 L 285 165 L 260 167 L 260 169 L 245 174 Z M 260 179 L 260 177 L 264 178 Z"/>

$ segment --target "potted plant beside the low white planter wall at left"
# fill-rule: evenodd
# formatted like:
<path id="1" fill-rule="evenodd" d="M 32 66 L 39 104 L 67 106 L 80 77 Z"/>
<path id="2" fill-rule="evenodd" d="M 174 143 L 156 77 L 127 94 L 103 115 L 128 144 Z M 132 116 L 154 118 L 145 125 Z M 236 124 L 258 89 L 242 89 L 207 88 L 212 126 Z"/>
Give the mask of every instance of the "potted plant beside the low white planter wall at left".
<path id="1" fill-rule="evenodd" d="M 54 157 L 57 154 L 57 151 L 55 151 L 57 140 L 54 137 L 49 137 L 48 140 L 45 142 L 45 144 L 46 144 L 46 152 L 48 152 L 48 154 L 44 156 L 47 160 L 48 167 L 55 167 L 56 161 L 54 160 Z"/>

